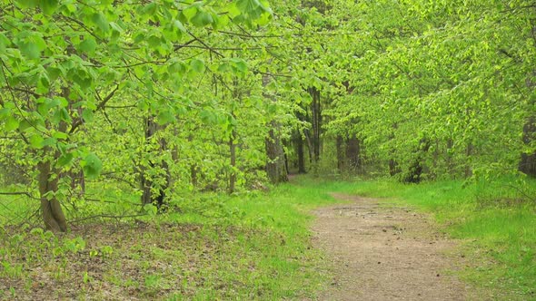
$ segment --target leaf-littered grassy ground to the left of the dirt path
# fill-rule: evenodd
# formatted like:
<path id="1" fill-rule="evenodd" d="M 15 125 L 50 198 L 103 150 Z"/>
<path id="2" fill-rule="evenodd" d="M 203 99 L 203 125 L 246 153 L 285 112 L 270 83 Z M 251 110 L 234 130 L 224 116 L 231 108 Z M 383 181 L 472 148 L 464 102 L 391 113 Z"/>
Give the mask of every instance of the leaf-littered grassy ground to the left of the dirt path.
<path id="1" fill-rule="evenodd" d="M 77 223 L 60 237 L 0 227 L 0 299 L 314 298 L 327 276 L 307 212 L 332 203 L 337 185 L 177 197 L 178 211 Z"/>

